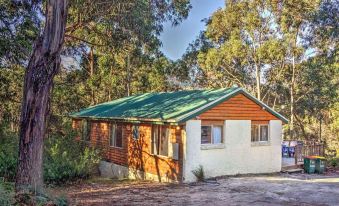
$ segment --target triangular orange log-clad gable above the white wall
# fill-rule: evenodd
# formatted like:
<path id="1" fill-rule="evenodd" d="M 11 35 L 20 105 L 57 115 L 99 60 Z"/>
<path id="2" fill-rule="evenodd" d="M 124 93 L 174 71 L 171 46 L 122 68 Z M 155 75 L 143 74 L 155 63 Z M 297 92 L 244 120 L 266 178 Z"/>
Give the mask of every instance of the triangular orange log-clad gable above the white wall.
<path id="1" fill-rule="evenodd" d="M 198 119 L 208 120 L 252 120 L 269 121 L 278 120 L 270 112 L 264 110 L 260 105 L 250 100 L 243 94 L 238 94 L 217 106 L 200 114 Z"/>

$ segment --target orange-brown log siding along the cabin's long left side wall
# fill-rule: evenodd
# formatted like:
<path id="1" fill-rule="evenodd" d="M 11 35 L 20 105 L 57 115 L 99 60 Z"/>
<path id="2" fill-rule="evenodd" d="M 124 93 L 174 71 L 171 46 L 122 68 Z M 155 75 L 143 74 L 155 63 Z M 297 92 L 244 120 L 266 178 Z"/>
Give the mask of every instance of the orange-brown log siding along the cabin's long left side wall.
<path id="1" fill-rule="evenodd" d="M 72 127 L 81 130 L 81 121 L 73 119 Z M 108 162 L 144 171 L 159 177 L 167 177 L 175 181 L 182 181 L 183 146 L 181 128 L 170 128 L 170 143 L 179 144 L 179 159 L 152 154 L 152 124 L 139 124 L 139 139 L 132 137 L 131 123 L 123 124 L 123 147 L 109 145 L 110 122 L 91 120 L 90 146 L 101 150 L 102 159 Z M 80 133 L 77 137 L 80 139 Z"/>

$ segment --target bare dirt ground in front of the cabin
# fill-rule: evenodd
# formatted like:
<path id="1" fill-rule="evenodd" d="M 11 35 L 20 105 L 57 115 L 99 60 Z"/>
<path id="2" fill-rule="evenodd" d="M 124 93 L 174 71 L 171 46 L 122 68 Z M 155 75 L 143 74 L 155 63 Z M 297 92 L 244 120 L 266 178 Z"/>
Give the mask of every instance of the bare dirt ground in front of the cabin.
<path id="1" fill-rule="evenodd" d="M 94 179 L 53 193 L 71 205 L 339 205 L 339 174 L 226 177 L 164 184 Z"/>

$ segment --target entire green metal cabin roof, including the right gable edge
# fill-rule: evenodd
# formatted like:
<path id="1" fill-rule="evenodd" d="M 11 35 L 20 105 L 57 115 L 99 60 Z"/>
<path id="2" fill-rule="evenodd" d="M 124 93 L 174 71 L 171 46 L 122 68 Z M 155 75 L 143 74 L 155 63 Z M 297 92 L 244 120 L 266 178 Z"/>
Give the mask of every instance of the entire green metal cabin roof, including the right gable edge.
<path id="1" fill-rule="evenodd" d="M 243 93 L 263 107 L 267 107 L 269 112 L 287 122 L 285 117 L 274 112 L 239 87 L 145 93 L 98 104 L 72 113 L 70 116 L 73 118 L 181 123 L 239 93 Z"/>

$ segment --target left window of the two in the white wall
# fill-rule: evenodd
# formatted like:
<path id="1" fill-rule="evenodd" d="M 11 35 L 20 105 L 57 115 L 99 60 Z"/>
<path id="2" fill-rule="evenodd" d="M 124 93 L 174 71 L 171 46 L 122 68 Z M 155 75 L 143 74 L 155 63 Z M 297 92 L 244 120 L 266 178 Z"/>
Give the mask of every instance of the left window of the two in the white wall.
<path id="1" fill-rule="evenodd" d="M 201 144 L 221 144 L 223 142 L 222 125 L 201 126 Z"/>

